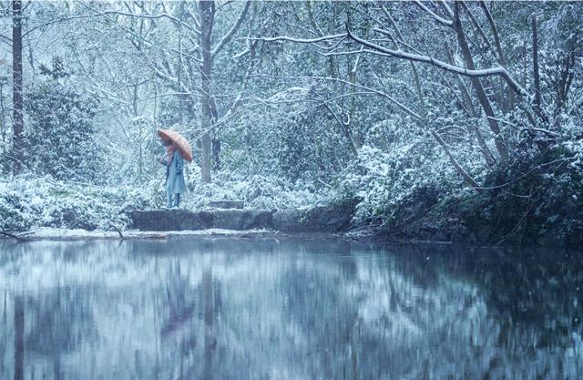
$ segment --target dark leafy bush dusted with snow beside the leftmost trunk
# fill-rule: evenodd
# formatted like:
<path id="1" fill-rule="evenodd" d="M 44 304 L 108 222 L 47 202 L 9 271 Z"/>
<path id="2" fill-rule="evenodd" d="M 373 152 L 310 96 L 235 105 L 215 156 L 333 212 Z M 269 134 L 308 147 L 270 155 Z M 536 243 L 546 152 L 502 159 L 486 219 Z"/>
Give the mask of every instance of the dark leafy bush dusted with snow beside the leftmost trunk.
<path id="1" fill-rule="evenodd" d="M 25 157 L 27 169 L 59 180 L 96 180 L 99 149 L 94 118 L 97 99 L 67 85 L 60 59 L 41 68 L 43 78 L 27 94 Z"/>

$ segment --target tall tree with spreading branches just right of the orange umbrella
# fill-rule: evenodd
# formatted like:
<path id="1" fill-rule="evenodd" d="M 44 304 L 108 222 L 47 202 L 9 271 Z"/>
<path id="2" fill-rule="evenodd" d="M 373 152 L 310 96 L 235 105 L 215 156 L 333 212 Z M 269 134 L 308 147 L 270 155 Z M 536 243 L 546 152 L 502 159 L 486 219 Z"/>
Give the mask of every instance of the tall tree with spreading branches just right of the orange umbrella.
<path id="1" fill-rule="evenodd" d="M 227 8 L 229 5 L 229 2 L 216 3 L 208 0 L 200 0 L 196 6 L 189 2 L 180 2 L 174 7 L 162 4 L 163 12 L 160 13 L 157 7 L 149 9 L 148 6 L 140 5 L 139 9 L 136 10 L 134 9 L 135 5 L 127 4 L 128 8 L 131 9 L 129 13 L 120 11 L 101 13 L 101 15 L 145 18 L 149 20 L 148 26 L 146 26 L 148 32 L 150 29 L 156 29 L 163 30 L 165 37 L 180 36 L 179 41 L 182 42 L 178 48 L 159 46 L 164 45 L 164 43 L 154 44 L 149 39 L 144 46 L 136 47 L 142 53 L 153 73 L 177 92 L 181 103 L 186 104 L 186 108 L 193 108 L 196 101 L 199 101 L 201 109 L 197 138 L 200 139 L 202 150 L 202 181 L 206 183 L 211 180 L 213 131 L 222 118 L 230 118 L 234 109 L 240 104 L 240 97 L 236 96 L 230 105 L 221 112 L 217 105 L 217 97 L 222 94 L 217 92 L 212 80 L 215 61 L 220 53 L 230 45 L 232 37 L 239 31 L 246 19 L 251 2 L 248 1 L 242 5 L 239 15 L 235 17 L 233 22 L 228 20 L 225 22 L 223 18 L 226 19 L 230 15 Z M 156 22 L 158 19 L 169 20 L 173 30 L 170 29 L 169 32 L 169 29 Z M 223 33 L 218 39 L 213 37 L 216 30 Z M 154 56 L 158 56 L 158 58 Z M 224 67 L 225 72 L 228 69 L 228 67 Z M 199 80 L 196 78 L 197 74 L 199 74 Z M 244 83 L 241 86 L 244 87 Z M 223 88 L 223 90 L 229 92 L 232 88 Z"/>

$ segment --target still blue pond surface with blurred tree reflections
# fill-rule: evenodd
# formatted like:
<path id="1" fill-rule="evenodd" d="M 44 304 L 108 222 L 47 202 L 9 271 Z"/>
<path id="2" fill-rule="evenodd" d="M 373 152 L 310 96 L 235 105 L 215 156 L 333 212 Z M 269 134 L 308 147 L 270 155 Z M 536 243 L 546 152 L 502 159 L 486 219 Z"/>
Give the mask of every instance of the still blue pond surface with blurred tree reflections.
<path id="1" fill-rule="evenodd" d="M 0 241 L 0 379 L 581 379 L 582 258 Z"/>

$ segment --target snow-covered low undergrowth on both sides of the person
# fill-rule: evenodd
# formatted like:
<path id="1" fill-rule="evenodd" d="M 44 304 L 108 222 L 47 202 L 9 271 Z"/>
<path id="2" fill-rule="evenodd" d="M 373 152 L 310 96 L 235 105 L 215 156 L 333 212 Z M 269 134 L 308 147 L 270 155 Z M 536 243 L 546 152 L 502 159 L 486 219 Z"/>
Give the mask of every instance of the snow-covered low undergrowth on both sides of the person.
<path id="1" fill-rule="evenodd" d="M 301 209 L 324 199 L 313 188 L 294 187 L 274 178 L 217 175 L 215 180 L 210 184 L 191 180 L 180 208 L 208 210 L 210 200 L 241 200 L 249 209 Z M 154 182 L 136 187 L 77 183 L 49 176 L 0 179 L 0 231 L 15 233 L 41 227 L 108 231 L 112 225 L 124 231 L 130 225 L 130 211 L 158 209 L 164 200 L 164 190 Z"/>

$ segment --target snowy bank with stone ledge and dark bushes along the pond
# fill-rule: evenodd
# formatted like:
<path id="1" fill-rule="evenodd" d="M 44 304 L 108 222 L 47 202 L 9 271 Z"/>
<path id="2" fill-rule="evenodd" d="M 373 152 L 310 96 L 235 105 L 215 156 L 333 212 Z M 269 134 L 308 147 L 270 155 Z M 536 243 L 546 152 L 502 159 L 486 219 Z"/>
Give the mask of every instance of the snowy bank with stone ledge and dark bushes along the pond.
<path id="1" fill-rule="evenodd" d="M 287 198 L 283 198 L 277 190 L 269 189 L 271 198 L 263 191 L 264 201 L 243 196 L 240 201 L 228 202 L 211 199 L 229 189 L 206 197 L 200 197 L 201 190 L 197 190 L 189 194 L 191 202 L 180 210 L 160 210 L 148 188 L 18 178 L 0 181 L 0 231 L 15 235 L 35 231 L 36 237 L 45 233 L 56 239 L 72 235 L 76 239 L 109 238 L 116 237 L 117 231 L 136 237 L 160 232 L 166 236 L 169 231 L 210 235 L 222 233 L 217 231 L 261 231 L 332 233 L 364 241 L 583 246 L 583 197 L 577 195 L 582 185 L 571 173 L 562 177 L 565 175 L 570 175 L 568 181 L 554 183 L 561 178 L 557 173 L 554 178 L 538 175 L 534 180 L 480 192 L 418 186 L 392 203 L 372 200 L 375 190 L 364 197 L 361 191 L 360 196 L 339 192 L 334 197 L 313 194 L 312 199 L 302 199 L 292 192 L 284 193 Z M 492 178 L 486 184 L 496 188 L 502 180 Z M 261 187 L 240 192 L 257 194 Z M 525 193 L 528 196 L 518 196 Z M 141 235 L 133 231 L 141 231 Z"/>

